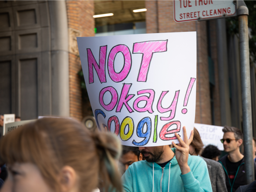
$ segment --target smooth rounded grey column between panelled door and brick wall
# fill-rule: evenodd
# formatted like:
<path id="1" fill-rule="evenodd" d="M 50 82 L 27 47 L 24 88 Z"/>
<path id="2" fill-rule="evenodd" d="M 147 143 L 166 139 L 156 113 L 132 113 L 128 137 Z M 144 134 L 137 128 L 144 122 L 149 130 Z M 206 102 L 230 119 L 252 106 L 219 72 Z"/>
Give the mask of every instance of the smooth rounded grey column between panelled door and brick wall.
<path id="1" fill-rule="evenodd" d="M 68 22 L 66 2 L 49 0 L 52 115 L 69 116 Z"/>

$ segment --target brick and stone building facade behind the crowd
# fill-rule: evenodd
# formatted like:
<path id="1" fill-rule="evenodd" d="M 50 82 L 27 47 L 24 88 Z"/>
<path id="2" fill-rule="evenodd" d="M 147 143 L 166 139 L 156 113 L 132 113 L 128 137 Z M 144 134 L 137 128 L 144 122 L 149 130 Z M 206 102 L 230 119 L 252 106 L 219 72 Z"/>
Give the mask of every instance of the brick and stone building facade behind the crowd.
<path id="1" fill-rule="evenodd" d="M 140 8 L 147 11 L 133 12 Z M 93 18 L 109 12 L 114 16 Z M 91 114 L 82 99 L 76 37 L 196 31 L 195 122 L 242 129 L 239 39 L 227 33 L 224 18 L 176 23 L 167 0 L 3 0 L 0 26 L 0 113 L 22 120 Z M 255 72 L 251 64 L 254 134 Z"/>

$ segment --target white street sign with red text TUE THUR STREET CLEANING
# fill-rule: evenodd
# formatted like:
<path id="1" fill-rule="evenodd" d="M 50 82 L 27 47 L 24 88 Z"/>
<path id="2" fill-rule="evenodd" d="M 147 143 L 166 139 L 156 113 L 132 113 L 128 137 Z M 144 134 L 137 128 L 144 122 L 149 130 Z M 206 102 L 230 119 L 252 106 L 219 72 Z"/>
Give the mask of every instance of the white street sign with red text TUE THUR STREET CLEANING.
<path id="1" fill-rule="evenodd" d="M 173 4 L 176 22 L 236 16 L 236 0 L 173 0 Z"/>

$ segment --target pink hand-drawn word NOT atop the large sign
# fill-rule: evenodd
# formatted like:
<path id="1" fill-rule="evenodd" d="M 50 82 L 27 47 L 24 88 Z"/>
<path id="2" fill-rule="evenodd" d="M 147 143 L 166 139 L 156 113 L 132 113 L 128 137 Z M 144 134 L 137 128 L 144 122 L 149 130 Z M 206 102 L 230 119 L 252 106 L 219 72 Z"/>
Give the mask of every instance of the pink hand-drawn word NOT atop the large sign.
<path id="1" fill-rule="evenodd" d="M 153 57 L 153 53 L 158 52 L 166 52 L 167 51 L 167 41 L 168 40 L 159 40 L 159 41 L 145 41 L 145 42 L 138 42 L 133 44 L 132 53 L 140 53 L 142 54 L 142 61 L 140 63 L 140 69 L 137 81 L 138 82 L 146 82 L 147 81 L 147 74 L 150 67 L 150 63 Z M 88 59 L 88 68 L 89 68 L 89 83 L 94 82 L 93 76 L 93 67 L 97 72 L 99 80 L 101 83 L 106 83 L 106 73 L 105 73 L 105 66 L 106 66 L 106 58 L 107 58 L 107 45 L 101 46 L 99 48 L 99 64 L 94 58 L 91 49 L 87 48 L 87 59 Z M 116 72 L 114 70 L 114 60 L 116 58 L 117 53 L 122 53 L 124 56 L 124 66 L 120 72 Z M 132 56 L 131 51 L 127 45 L 116 45 L 114 46 L 108 56 L 108 72 L 110 78 L 114 82 L 121 82 L 125 78 L 127 78 L 129 72 L 131 71 L 132 67 Z"/>

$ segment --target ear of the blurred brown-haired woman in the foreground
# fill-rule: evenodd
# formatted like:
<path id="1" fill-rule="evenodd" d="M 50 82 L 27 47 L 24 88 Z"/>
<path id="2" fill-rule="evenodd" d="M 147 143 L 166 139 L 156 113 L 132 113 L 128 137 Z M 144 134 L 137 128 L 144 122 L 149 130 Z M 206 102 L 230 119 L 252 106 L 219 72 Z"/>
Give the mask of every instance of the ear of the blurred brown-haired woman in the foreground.
<path id="1" fill-rule="evenodd" d="M 78 176 L 70 166 L 64 166 L 60 171 L 61 192 L 69 192 L 78 188 Z"/>

